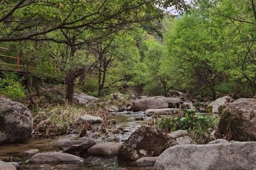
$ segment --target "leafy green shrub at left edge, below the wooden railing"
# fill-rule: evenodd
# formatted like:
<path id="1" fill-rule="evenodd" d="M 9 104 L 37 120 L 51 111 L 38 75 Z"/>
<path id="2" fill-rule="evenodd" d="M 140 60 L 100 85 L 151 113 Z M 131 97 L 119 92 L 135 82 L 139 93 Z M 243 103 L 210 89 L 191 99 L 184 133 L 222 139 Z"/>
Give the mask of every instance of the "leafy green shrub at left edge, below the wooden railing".
<path id="1" fill-rule="evenodd" d="M 0 94 L 16 101 L 22 101 L 25 98 L 26 91 L 17 74 L 3 74 L 3 78 L 0 78 Z"/>

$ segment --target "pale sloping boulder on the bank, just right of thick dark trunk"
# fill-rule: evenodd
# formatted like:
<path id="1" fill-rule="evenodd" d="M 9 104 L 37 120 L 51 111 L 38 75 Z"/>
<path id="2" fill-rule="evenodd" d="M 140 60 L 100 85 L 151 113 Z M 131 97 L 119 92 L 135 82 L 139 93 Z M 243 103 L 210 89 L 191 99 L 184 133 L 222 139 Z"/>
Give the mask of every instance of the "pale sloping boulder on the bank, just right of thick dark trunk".
<path id="1" fill-rule="evenodd" d="M 74 93 L 73 99 L 75 102 L 77 102 L 79 105 L 96 105 L 96 102 L 99 100 L 97 97 L 89 96 L 87 94 L 77 94 Z"/>

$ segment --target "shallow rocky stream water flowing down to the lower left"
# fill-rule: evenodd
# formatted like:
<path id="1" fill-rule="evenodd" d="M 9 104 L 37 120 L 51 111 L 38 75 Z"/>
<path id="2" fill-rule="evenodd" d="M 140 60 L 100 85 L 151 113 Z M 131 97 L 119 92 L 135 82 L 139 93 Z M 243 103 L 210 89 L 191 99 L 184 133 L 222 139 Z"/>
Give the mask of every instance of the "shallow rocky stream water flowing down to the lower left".
<path id="1" fill-rule="evenodd" d="M 116 119 L 115 128 L 125 128 L 128 132 L 122 134 L 113 134 L 111 132 L 103 136 L 93 136 L 88 133 L 84 139 L 93 139 L 96 143 L 113 142 L 115 140 L 124 141 L 131 136 L 137 128 L 143 125 L 144 120 L 135 121 L 135 118 L 143 117 L 144 120 L 149 120 L 143 112 L 119 112 L 113 113 L 111 119 Z M 96 126 L 96 125 L 95 125 Z M 96 127 L 95 127 L 96 128 Z M 58 140 L 72 138 L 74 135 L 58 136 L 51 139 L 44 139 L 39 137 L 29 138 L 24 143 L 9 144 L 0 146 L 0 160 L 3 161 L 16 161 L 20 163 L 20 170 L 152 170 L 153 167 L 123 167 L 118 163 L 116 157 L 85 157 L 83 164 L 29 164 L 30 157 L 26 156 L 23 152 L 31 149 L 38 149 L 40 152 L 58 151 Z M 12 158 L 12 160 L 10 159 Z"/>

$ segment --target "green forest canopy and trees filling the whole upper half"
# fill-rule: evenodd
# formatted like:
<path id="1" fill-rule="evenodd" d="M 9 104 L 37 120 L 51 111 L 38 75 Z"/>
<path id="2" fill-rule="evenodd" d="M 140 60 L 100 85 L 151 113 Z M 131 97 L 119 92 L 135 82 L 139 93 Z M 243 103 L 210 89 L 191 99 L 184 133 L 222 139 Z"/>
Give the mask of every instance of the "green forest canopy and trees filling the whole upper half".
<path id="1" fill-rule="evenodd" d="M 0 54 L 18 55 L 26 74 L 23 81 L 3 75 L 0 94 L 23 98 L 35 84 L 50 82 L 66 85 L 68 100 L 76 90 L 93 96 L 167 96 L 171 90 L 200 99 L 254 96 L 254 0 L 176 2 L 1 2 L 0 47 L 10 50 Z M 167 12 L 171 8 L 179 13 Z M 15 61 L 0 57 L 1 68 L 8 63 Z"/>

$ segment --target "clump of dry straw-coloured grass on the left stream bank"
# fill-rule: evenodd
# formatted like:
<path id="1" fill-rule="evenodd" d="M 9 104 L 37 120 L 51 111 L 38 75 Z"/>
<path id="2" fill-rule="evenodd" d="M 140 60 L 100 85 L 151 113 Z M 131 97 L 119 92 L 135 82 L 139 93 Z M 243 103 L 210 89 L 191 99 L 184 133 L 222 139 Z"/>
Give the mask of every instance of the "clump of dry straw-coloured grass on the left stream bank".
<path id="1" fill-rule="evenodd" d="M 49 105 L 47 109 L 34 111 L 34 128 L 45 137 L 67 134 L 72 130 L 80 131 L 82 129 L 90 129 L 89 123 L 80 121 L 81 116 L 84 114 L 101 117 L 103 122 L 99 129 L 111 124 L 108 111 L 105 111 L 101 107 Z"/>

